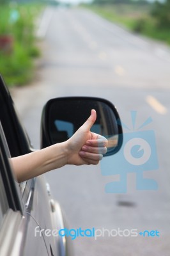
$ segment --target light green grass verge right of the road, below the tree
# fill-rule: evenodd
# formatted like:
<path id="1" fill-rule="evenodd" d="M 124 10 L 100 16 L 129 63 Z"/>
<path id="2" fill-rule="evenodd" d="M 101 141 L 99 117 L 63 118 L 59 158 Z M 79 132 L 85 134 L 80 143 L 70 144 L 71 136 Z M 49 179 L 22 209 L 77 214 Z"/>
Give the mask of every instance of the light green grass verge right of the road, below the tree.
<path id="1" fill-rule="evenodd" d="M 105 19 L 116 22 L 134 33 L 141 33 L 141 35 L 161 40 L 170 45 L 170 29 L 160 28 L 157 20 L 150 15 L 152 4 L 110 4 L 103 6 L 85 4 L 83 7 L 89 8 Z"/>

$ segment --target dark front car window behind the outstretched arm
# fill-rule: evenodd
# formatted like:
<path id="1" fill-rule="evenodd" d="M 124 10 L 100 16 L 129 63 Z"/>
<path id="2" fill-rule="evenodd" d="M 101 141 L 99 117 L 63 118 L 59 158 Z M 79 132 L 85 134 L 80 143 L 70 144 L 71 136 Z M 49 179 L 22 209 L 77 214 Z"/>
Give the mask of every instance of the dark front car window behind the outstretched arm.
<path id="1" fill-rule="evenodd" d="M 16 157 L 30 152 L 31 143 L 15 110 L 12 97 L 0 76 L 0 121 L 10 150 L 10 156 Z M 27 182 L 19 184 L 24 195 Z"/>

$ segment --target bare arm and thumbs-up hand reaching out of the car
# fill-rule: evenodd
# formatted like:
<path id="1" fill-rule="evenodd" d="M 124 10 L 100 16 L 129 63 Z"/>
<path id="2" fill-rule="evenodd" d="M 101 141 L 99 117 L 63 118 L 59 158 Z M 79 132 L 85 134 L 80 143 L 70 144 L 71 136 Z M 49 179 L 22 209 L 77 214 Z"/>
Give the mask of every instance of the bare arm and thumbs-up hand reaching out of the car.
<path id="1" fill-rule="evenodd" d="M 65 164 L 98 164 L 107 151 L 107 140 L 93 132 L 91 126 L 96 120 L 96 111 L 73 134 L 69 140 L 11 159 L 17 180 L 22 182 Z"/>

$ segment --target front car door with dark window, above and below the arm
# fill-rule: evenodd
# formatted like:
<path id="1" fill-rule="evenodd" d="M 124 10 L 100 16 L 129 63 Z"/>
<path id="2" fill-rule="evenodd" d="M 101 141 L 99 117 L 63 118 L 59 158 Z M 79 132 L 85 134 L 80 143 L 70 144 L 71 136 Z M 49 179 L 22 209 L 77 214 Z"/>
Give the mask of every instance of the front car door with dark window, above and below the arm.
<path id="1" fill-rule="evenodd" d="M 15 111 L 13 100 L 1 76 L 0 120 L 12 157 L 33 151 L 27 133 L 22 127 L 19 116 Z M 15 195 L 15 198 L 21 202 L 20 205 L 23 208 L 22 210 L 17 209 L 17 211 L 20 211 L 21 217 L 24 216 L 27 221 L 27 227 L 24 226 L 25 243 L 24 254 L 22 255 L 54 255 L 56 249 L 54 248 L 52 238 L 44 237 L 43 235 L 41 237 L 35 237 L 34 231 L 37 226 L 52 229 L 52 223 L 50 221 L 50 198 L 47 194 L 43 177 L 27 180 L 19 185 L 15 184 L 15 186 L 19 187 L 19 193 Z M 41 244 L 40 246 L 39 243 Z M 39 247 L 44 250 L 40 252 Z M 31 251 L 32 253 L 30 253 Z"/>

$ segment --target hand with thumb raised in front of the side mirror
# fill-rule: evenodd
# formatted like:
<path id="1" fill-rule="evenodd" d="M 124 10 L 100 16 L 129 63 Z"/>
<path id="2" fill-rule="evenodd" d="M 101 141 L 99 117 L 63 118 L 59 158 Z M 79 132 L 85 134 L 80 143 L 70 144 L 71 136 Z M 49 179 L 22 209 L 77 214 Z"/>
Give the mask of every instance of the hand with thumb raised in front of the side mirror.
<path id="1" fill-rule="evenodd" d="M 107 140 L 90 131 L 96 118 L 97 113 L 92 109 L 88 120 L 66 141 L 68 143 L 67 164 L 98 164 L 103 154 L 107 152 Z"/>

